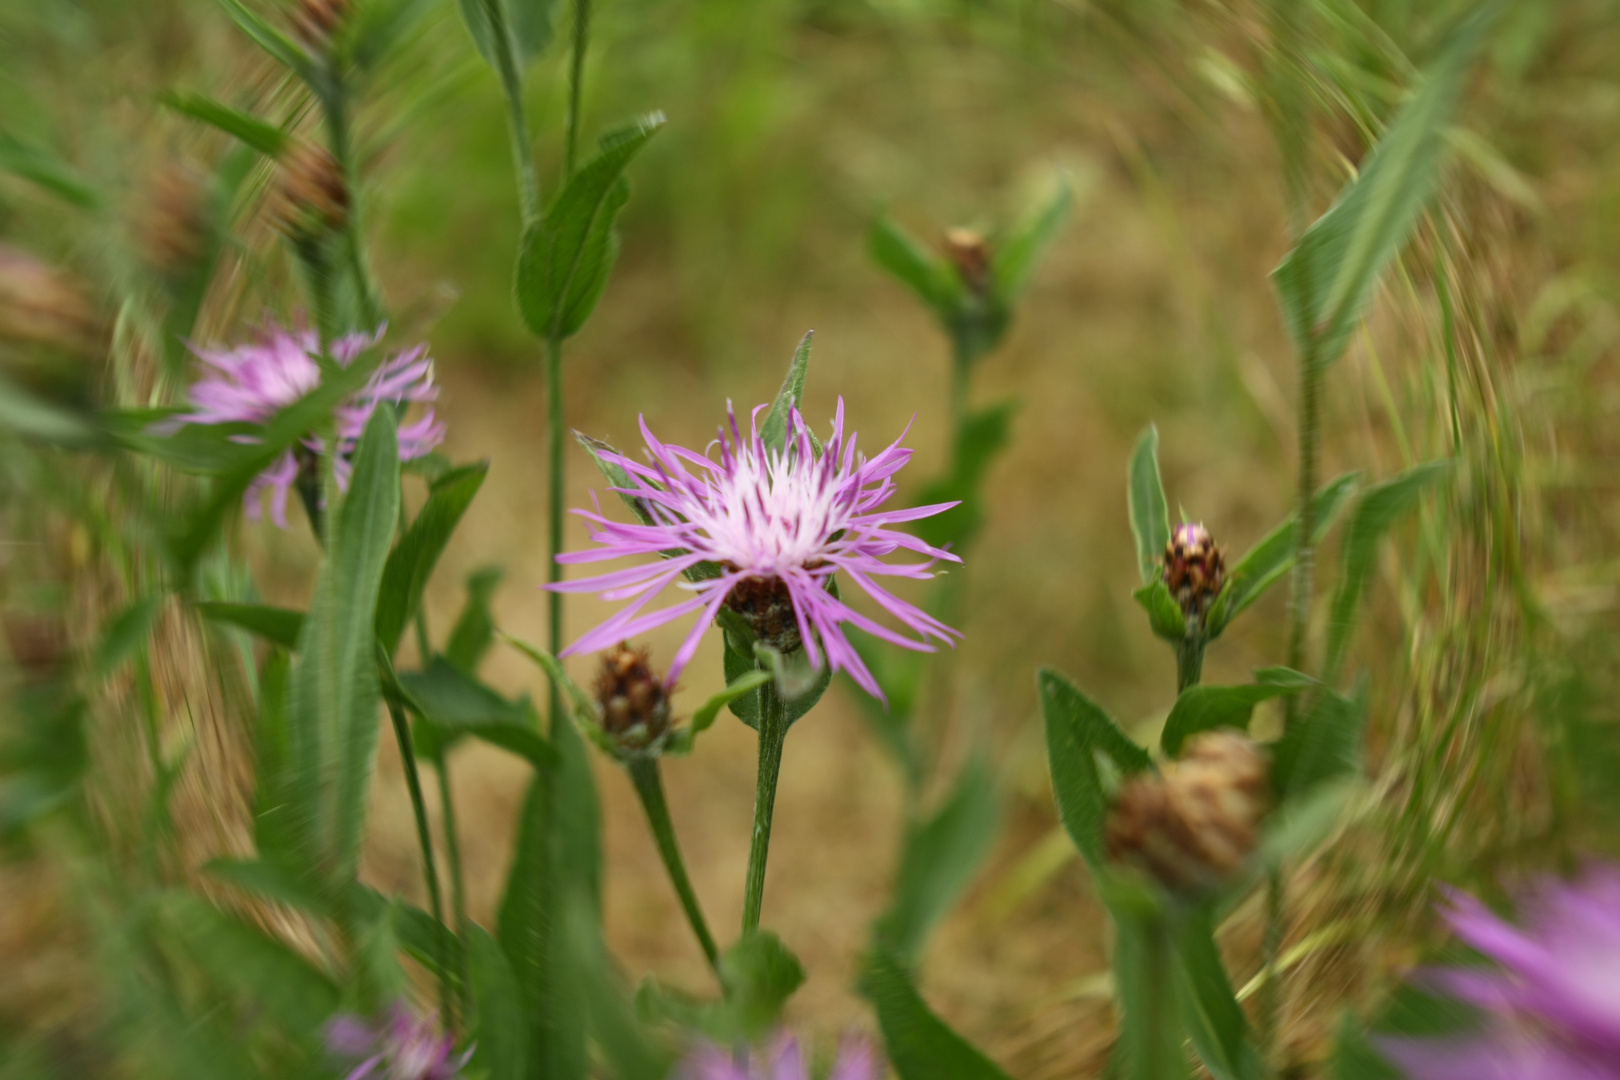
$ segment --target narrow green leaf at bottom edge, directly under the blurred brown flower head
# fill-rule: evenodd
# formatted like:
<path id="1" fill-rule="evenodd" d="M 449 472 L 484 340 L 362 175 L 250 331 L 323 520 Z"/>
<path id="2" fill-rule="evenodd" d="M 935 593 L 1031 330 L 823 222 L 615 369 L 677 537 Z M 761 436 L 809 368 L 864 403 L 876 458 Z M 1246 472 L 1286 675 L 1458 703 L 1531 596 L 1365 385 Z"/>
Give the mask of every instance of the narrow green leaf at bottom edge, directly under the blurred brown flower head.
<path id="1" fill-rule="evenodd" d="M 1173 933 L 1176 997 L 1192 1048 L 1215 1080 L 1260 1080 L 1265 1065 L 1249 1041 L 1247 1017 L 1215 947 L 1212 908 L 1187 910 Z"/>

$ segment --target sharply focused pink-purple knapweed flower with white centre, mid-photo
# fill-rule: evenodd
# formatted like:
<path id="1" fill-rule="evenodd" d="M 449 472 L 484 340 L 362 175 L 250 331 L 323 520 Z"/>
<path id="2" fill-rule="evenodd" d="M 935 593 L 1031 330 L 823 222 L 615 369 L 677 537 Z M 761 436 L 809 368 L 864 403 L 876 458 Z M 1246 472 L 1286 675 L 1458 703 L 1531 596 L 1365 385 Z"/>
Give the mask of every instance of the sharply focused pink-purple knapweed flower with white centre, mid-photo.
<path id="1" fill-rule="evenodd" d="M 562 593 L 601 593 L 603 599 L 630 601 L 619 614 L 564 649 L 564 656 L 595 653 L 654 627 L 698 614 L 669 665 L 667 682 L 680 675 L 703 631 L 729 606 L 755 635 L 782 653 L 804 648 L 813 667 L 823 661 L 844 670 L 870 695 L 881 698 L 876 680 L 844 636 L 844 623 L 909 649 L 933 651 L 928 638 L 949 643 L 959 636 L 938 619 L 899 599 L 876 576 L 930 578 L 935 560 L 961 562 L 891 526 L 954 507 L 941 502 L 912 510 L 881 510 L 896 491 L 894 473 L 910 460 L 896 439 L 873 458 L 855 450 L 855 436 L 844 439 L 844 402 L 838 402 L 833 437 L 815 452 L 810 427 L 792 410 L 781 450 L 765 445 L 753 410 L 752 431 L 744 439 L 737 416 L 711 447 L 719 460 L 693 450 L 664 445 L 642 421 L 650 465 L 603 452 L 603 458 L 630 474 L 630 487 L 616 489 L 637 499 L 651 525 L 625 525 L 601 513 L 577 510 L 591 523 L 595 551 L 557 555 L 562 563 L 603 562 L 625 555 L 645 559 L 638 567 L 603 573 L 551 588 Z M 891 563 L 896 551 L 923 555 L 925 562 Z M 676 552 L 676 554 L 672 554 Z M 687 570 L 711 563 L 716 575 L 684 581 L 692 594 L 671 607 L 642 614 L 666 586 Z M 920 640 L 889 630 L 854 610 L 829 591 L 833 575 L 855 585 Z"/>

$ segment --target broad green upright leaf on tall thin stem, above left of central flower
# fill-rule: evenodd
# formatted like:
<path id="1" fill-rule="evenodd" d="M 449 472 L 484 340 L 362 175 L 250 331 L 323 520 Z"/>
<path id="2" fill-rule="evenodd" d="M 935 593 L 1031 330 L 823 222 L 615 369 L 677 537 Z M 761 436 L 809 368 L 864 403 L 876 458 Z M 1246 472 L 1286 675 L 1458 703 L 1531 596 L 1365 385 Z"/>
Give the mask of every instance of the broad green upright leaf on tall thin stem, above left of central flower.
<path id="1" fill-rule="evenodd" d="M 604 136 L 601 152 L 523 235 L 518 306 L 536 335 L 570 337 L 585 325 L 619 254 L 614 219 L 630 198 L 624 170 L 663 126 L 663 113 L 651 113 Z"/>

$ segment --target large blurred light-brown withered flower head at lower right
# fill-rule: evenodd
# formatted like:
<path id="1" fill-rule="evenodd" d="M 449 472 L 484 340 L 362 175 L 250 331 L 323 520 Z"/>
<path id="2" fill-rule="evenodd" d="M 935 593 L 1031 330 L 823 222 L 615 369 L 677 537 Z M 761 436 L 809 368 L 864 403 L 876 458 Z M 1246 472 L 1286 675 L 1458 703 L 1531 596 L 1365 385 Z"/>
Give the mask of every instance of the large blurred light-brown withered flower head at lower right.
<path id="1" fill-rule="evenodd" d="M 1268 764 L 1241 732 L 1202 732 L 1163 772 L 1132 777 L 1108 813 L 1110 861 L 1166 889 L 1204 892 L 1254 852 L 1267 808 Z"/>

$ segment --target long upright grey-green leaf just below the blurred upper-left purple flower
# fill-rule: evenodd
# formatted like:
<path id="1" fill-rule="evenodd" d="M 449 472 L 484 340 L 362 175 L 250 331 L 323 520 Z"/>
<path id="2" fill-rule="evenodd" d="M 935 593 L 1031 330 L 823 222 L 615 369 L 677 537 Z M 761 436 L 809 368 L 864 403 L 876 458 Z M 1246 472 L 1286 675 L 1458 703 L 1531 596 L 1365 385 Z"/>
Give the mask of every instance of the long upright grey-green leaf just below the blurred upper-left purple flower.
<path id="1" fill-rule="evenodd" d="M 371 415 L 355 452 L 348 495 L 330 521 L 326 563 L 298 640 L 292 680 L 290 764 L 308 852 L 322 876 L 355 876 L 377 748 L 377 591 L 399 521 L 394 410 Z"/>

